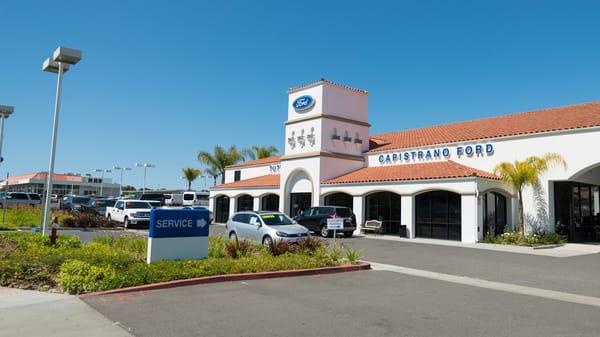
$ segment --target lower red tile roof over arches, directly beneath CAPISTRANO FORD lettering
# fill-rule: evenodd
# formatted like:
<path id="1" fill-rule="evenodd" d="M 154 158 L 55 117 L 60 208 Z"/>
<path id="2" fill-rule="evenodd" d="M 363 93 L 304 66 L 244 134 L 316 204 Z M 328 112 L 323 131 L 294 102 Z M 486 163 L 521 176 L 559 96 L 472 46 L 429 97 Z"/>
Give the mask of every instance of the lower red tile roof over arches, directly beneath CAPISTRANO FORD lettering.
<path id="1" fill-rule="evenodd" d="M 343 176 L 328 180 L 324 184 L 355 184 L 384 181 L 406 181 L 427 179 L 449 179 L 478 177 L 499 179 L 492 173 L 458 164 L 451 160 L 435 163 L 419 163 L 365 167 Z"/>

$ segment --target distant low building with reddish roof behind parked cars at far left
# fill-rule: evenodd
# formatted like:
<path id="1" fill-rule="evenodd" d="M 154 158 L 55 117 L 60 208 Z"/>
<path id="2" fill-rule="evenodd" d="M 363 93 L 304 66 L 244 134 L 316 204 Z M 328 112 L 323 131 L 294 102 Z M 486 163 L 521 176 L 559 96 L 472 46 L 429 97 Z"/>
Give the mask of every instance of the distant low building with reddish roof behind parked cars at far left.
<path id="1" fill-rule="evenodd" d="M 46 172 L 36 172 L 23 174 L 8 178 L 0 182 L 2 190 L 8 187 L 9 192 L 29 192 L 45 194 Z M 82 176 L 80 174 L 66 173 L 54 174 L 52 178 L 52 193 L 58 195 L 77 194 L 77 195 L 102 195 L 118 196 L 119 184 L 112 182 L 110 178 Z"/>

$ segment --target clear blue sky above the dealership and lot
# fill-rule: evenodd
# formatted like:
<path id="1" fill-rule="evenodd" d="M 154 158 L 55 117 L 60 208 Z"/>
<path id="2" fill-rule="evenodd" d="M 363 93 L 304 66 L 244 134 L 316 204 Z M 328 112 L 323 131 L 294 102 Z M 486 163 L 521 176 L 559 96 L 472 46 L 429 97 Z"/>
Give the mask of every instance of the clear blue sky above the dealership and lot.
<path id="1" fill-rule="evenodd" d="M 56 171 L 147 161 L 148 186 L 178 188 L 200 150 L 283 148 L 286 89 L 321 77 L 369 90 L 371 134 L 599 100 L 599 4 L 5 1 L 0 175 L 47 170 L 41 63 L 59 45 L 84 59 L 65 76 Z"/>

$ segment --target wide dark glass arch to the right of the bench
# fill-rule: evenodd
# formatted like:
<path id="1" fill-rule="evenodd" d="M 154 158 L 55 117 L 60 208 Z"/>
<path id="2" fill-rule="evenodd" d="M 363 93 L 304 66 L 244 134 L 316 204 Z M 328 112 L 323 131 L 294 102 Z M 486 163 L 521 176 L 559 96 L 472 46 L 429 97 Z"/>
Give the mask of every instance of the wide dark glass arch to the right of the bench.
<path id="1" fill-rule="evenodd" d="M 431 191 L 415 197 L 415 232 L 417 237 L 461 239 L 460 194 Z"/>

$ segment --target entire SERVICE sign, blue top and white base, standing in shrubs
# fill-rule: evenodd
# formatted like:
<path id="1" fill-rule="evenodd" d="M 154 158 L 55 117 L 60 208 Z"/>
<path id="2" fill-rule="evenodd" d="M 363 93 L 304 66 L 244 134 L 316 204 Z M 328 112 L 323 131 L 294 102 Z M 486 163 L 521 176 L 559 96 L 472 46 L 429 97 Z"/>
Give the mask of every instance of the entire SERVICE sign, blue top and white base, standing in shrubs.
<path id="1" fill-rule="evenodd" d="M 209 224 L 206 209 L 153 209 L 146 262 L 206 258 Z"/>

